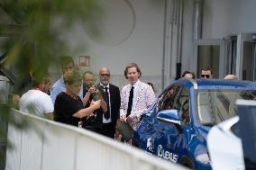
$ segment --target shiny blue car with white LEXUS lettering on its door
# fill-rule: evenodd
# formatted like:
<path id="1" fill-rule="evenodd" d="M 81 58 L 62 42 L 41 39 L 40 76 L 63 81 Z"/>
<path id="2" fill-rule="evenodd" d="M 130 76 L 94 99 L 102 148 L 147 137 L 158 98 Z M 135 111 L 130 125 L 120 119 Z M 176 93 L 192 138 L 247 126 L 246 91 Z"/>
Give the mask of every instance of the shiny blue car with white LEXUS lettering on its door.
<path id="1" fill-rule="evenodd" d="M 179 79 L 143 114 L 133 145 L 193 169 L 212 169 L 206 136 L 215 124 L 236 115 L 237 99 L 256 100 L 256 83 Z"/>

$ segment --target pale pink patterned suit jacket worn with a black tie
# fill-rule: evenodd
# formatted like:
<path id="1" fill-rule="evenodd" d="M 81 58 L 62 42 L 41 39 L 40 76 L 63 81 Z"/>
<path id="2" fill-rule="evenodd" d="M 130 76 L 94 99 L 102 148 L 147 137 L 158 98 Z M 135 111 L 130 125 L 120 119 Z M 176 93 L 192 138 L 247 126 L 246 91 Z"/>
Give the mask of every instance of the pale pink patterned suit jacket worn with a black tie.
<path id="1" fill-rule="evenodd" d="M 120 106 L 120 116 L 126 115 L 128 109 L 129 95 L 132 85 L 123 86 L 121 92 L 121 106 Z M 150 106 L 151 103 L 155 101 L 155 94 L 151 85 L 147 85 L 138 80 L 135 84 L 134 90 L 136 90 L 137 95 L 133 99 L 133 107 L 131 115 L 136 116 L 134 124 L 131 124 L 133 129 L 136 128 L 138 121 L 141 120 L 142 113 L 145 112 Z"/>

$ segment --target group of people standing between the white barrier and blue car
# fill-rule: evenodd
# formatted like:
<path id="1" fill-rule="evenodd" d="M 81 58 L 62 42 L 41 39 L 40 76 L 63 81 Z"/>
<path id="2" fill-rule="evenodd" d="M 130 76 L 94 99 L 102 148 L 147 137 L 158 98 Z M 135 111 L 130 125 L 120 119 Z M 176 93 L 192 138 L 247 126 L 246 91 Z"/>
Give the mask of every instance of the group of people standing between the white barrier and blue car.
<path id="1" fill-rule="evenodd" d="M 142 71 L 135 63 L 124 68 L 129 84 L 121 92 L 110 84 L 108 67 L 100 68 L 98 84 L 90 71 L 81 76 L 71 57 L 61 59 L 61 69 L 62 76 L 51 88 L 50 76 L 32 76 L 32 89 L 21 97 L 20 111 L 120 139 L 116 123 L 134 130 L 142 112 L 155 100 L 151 85 L 140 80 Z"/>

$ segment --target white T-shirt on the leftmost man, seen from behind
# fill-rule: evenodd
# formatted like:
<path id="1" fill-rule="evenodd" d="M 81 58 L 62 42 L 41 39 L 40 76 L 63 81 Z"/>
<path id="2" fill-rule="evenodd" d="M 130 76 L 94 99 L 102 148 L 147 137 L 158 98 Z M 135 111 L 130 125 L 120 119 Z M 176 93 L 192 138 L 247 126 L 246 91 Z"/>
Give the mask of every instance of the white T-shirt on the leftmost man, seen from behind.
<path id="1" fill-rule="evenodd" d="M 20 111 L 35 114 L 44 117 L 44 113 L 54 111 L 53 103 L 50 95 L 41 92 L 40 90 L 29 90 L 23 94 L 19 102 Z"/>

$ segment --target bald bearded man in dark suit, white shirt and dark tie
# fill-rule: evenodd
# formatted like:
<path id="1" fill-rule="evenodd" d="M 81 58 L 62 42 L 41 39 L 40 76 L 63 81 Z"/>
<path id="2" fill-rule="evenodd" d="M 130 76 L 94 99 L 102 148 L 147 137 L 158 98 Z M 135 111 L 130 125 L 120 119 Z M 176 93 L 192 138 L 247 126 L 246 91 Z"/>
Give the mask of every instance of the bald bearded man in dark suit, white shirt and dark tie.
<path id="1" fill-rule="evenodd" d="M 110 71 L 107 67 L 101 67 L 99 71 L 100 86 L 105 92 L 105 103 L 107 103 L 107 112 L 102 114 L 102 129 L 100 134 L 114 139 L 115 125 L 119 119 L 120 112 L 120 91 L 115 85 L 109 84 Z"/>

